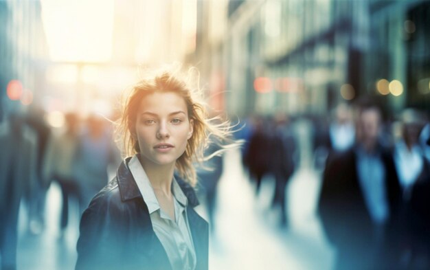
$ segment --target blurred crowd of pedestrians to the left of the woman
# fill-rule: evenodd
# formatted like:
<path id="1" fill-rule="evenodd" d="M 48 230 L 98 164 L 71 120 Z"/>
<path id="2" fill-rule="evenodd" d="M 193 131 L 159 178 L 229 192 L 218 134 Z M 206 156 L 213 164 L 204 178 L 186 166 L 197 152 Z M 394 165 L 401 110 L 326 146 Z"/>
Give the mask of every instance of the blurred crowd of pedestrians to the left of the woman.
<path id="1" fill-rule="evenodd" d="M 61 116 L 61 115 L 60 115 Z M 34 106 L 12 111 L 0 126 L 0 249 L 1 269 L 16 269 L 17 226 L 22 201 L 27 232 L 45 229 L 45 203 L 52 182 L 58 183 L 62 206 L 58 227 L 63 234 L 69 218 L 69 200 L 80 214 L 106 185 L 108 169 L 120 163 L 112 125 L 96 114 L 82 118 L 66 113 L 63 125 L 47 122 L 45 111 Z M 74 213 L 72 213 L 74 214 Z"/>

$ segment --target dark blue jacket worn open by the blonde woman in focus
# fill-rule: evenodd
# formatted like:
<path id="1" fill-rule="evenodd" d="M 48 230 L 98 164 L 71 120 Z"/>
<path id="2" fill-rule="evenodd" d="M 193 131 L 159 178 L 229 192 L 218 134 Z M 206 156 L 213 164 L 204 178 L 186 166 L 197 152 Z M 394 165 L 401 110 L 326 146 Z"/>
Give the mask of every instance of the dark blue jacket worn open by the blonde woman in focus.
<path id="1" fill-rule="evenodd" d="M 155 235 L 148 207 L 125 159 L 117 176 L 95 195 L 80 221 L 78 261 L 82 269 L 171 269 L 166 251 Z M 194 211 L 194 189 L 177 177 L 188 198 L 188 222 L 196 250 L 196 270 L 208 269 L 207 222 Z"/>

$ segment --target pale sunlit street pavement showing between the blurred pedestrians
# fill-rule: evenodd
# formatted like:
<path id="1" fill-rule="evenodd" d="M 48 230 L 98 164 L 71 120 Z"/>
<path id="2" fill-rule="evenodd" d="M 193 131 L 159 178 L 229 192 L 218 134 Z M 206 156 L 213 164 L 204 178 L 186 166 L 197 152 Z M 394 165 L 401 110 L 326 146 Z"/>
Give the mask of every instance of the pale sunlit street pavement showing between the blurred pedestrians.
<path id="1" fill-rule="evenodd" d="M 278 212 L 269 207 L 273 179 L 264 179 L 256 197 L 255 187 L 240 164 L 239 150 L 226 153 L 225 170 L 218 185 L 215 229 L 210 238 L 210 269 L 331 269 L 335 252 L 326 243 L 315 216 L 320 181 L 318 172 L 309 166 L 308 139 L 303 136 L 306 125 L 298 125 L 297 133 L 302 134 L 298 136 L 302 138 L 302 165 L 286 190 L 290 221 L 287 228 L 278 226 Z M 78 207 L 70 203 L 70 223 L 62 235 L 58 229 L 60 204 L 60 188 L 53 183 L 47 193 L 47 224 L 40 234 L 28 233 L 26 210 L 21 204 L 19 270 L 73 269 Z M 197 210 L 206 216 L 204 201 Z"/>

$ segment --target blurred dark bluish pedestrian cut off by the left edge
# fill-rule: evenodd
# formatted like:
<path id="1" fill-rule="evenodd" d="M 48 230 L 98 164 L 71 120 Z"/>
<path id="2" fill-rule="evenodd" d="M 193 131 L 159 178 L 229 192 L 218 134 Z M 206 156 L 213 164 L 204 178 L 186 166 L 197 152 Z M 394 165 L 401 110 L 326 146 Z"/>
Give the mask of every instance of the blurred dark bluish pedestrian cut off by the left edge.
<path id="1" fill-rule="evenodd" d="M 13 112 L 0 128 L 0 257 L 1 269 L 16 269 L 19 203 L 34 185 L 36 144 L 25 117 Z"/>

